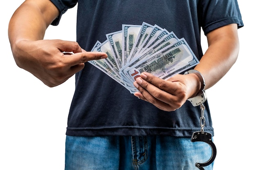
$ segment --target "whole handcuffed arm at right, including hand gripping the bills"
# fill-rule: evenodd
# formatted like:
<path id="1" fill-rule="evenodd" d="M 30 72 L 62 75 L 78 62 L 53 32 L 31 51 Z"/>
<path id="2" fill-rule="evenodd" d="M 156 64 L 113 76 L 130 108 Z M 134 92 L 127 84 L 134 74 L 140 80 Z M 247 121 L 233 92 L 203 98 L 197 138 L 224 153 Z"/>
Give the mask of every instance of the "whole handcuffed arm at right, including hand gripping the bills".
<path id="1" fill-rule="evenodd" d="M 236 62 L 239 52 L 237 24 L 229 24 L 215 29 L 207 34 L 209 48 L 194 69 L 199 71 L 210 88 L 216 84 Z M 135 96 L 152 103 L 156 107 L 173 111 L 180 108 L 187 99 L 194 97 L 201 89 L 202 82 L 197 75 L 175 75 L 163 80 L 141 73 L 134 82 L 140 91 Z"/>

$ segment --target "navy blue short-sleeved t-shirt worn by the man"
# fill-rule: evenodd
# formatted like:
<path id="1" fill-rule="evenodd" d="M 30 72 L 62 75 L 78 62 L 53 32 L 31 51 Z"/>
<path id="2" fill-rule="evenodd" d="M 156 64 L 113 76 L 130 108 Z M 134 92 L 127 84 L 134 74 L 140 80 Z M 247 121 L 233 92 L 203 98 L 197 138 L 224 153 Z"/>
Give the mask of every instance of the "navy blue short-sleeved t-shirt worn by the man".
<path id="1" fill-rule="evenodd" d="M 77 0 L 51 0 L 60 11 L 53 25 Z M 122 24 L 157 24 L 185 38 L 200 58 L 201 27 L 207 34 L 231 23 L 243 26 L 236 0 L 78 0 L 77 42 L 91 51 L 97 40 L 119 31 Z M 208 103 L 205 131 L 213 135 Z M 200 130 L 200 106 L 186 102 L 166 112 L 138 99 L 126 88 L 89 63 L 76 73 L 76 90 L 70 107 L 67 135 L 172 135 L 190 137 Z"/>

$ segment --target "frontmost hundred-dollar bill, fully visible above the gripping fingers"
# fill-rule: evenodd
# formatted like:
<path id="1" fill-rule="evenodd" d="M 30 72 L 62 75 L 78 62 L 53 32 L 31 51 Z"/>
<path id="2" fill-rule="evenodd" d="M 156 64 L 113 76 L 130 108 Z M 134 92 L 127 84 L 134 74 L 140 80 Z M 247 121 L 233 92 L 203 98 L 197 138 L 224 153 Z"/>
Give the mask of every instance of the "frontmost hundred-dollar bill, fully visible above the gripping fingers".
<path id="1" fill-rule="evenodd" d="M 133 81 L 142 72 L 151 73 L 161 79 L 168 79 L 199 63 L 184 38 L 166 46 L 146 59 L 135 64 L 132 68 L 126 68 L 126 73 Z"/>

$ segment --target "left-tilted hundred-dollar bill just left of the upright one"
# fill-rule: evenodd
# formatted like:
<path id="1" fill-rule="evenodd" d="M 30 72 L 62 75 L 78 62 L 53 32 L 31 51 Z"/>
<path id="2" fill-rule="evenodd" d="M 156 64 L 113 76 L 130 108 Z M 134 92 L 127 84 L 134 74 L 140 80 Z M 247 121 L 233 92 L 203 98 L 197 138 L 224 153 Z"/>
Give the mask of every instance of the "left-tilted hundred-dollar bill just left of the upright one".
<path id="1" fill-rule="evenodd" d="M 122 30 L 106 34 L 112 54 L 114 54 L 115 62 L 119 69 L 122 67 L 122 35 Z"/>

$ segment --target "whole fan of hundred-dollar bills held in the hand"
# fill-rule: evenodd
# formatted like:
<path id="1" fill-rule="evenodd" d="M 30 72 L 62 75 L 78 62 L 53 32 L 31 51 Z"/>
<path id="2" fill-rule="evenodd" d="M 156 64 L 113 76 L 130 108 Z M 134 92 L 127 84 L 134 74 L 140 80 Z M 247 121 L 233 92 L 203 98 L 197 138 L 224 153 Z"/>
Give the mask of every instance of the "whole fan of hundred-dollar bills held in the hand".
<path id="1" fill-rule="evenodd" d="M 97 41 L 92 51 L 107 53 L 108 58 L 90 63 L 130 93 L 138 91 L 133 82 L 142 72 L 168 79 L 199 64 L 184 38 L 157 25 L 123 24 L 122 30 L 108 33 L 106 38 Z"/>

